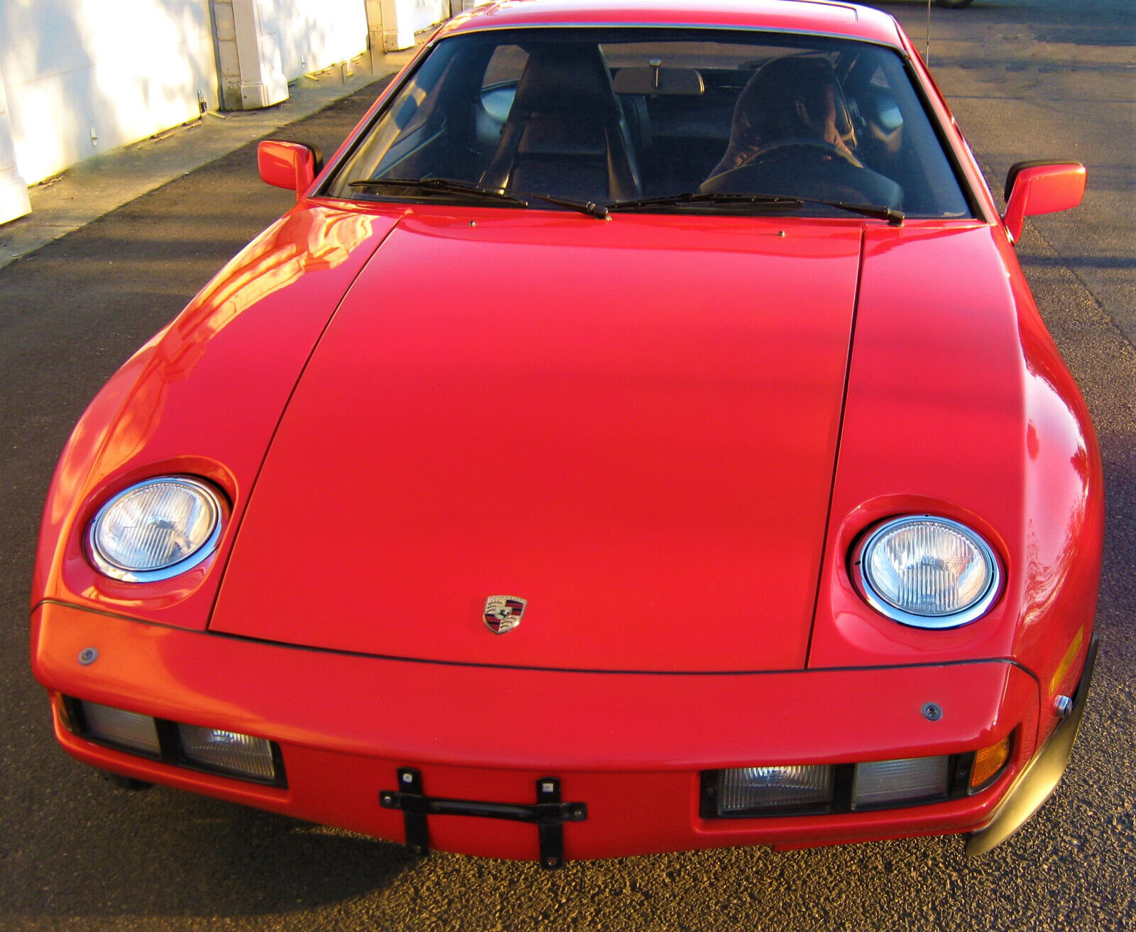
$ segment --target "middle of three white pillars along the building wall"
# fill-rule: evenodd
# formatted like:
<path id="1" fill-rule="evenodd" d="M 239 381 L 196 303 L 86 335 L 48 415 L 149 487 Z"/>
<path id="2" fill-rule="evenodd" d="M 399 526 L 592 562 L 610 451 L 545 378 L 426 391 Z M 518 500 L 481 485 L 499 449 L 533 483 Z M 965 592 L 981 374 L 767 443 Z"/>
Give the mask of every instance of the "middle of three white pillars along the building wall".
<path id="1" fill-rule="evenodd" d="M 253 110 L 287 100 L 287 78 L 273 6 L 266 0 L 212 0 L 222 106 Z"/>

